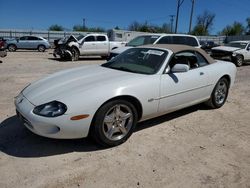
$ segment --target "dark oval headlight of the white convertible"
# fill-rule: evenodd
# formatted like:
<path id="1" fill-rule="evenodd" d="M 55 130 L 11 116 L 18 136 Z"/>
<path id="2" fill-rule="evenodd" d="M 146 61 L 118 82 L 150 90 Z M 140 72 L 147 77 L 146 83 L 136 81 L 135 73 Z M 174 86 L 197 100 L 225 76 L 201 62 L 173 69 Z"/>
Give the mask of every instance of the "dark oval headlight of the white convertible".
<path id="1" fill-rule="evenodd" d="M 58 101 L 52 101 L 34 108 L 33 113 L 44 117 L 57 117 L 67 111 L 67 106 Z"/>

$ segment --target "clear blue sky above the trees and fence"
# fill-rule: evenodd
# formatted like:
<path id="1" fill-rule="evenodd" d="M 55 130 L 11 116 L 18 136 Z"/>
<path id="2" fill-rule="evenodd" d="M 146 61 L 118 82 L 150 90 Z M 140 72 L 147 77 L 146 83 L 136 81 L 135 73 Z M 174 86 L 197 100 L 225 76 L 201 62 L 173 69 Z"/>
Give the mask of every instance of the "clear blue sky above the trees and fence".
<path id="1" fill-rule="evenodd" d="M 86 19 L 87 27 L 127 29 L 133 21 L 162 25 L 176 14 L 177 0 L 0 0 L 1 29 L 42 29 L 52 24 L 72 29 Z M 246 24 L 250 0 L 195 0 L 193 25 L 197 15 L 215 13 L 212 34 L 234 21 Z M 178 32 L 188 32 L 191 0 L 180 7 Z"/>

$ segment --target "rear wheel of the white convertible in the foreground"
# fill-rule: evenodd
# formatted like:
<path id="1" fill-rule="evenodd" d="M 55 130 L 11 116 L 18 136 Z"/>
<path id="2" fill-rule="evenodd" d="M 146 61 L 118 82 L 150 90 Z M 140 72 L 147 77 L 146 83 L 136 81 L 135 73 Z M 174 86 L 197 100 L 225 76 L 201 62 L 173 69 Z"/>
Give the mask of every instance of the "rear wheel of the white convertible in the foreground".
<path id="1" fill-rule="evenodd" d="M 229 82 L 226 78 L 221 78 L 215 85 L 210 99 L 206 102 L 211 108 L 220 108 L 227 100 Z"/>

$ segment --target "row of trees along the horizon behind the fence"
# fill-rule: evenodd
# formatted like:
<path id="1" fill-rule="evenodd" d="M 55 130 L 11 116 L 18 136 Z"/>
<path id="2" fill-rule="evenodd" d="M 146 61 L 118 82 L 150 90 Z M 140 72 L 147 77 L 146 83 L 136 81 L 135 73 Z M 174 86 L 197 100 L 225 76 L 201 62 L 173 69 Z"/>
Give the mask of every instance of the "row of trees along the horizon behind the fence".
<path id="1" fill-rule="evenodd" d="M 213 24 L 215 22 L 215 14 L 209 11 L 204 11 L 202 14 L 198 15 L 195 21 L 195 25 L 189 34 L 197 36 L 210 35 L 213 30 Z M 140 32 L 150 32 L 150 33 L 173 33 L 173 25 L 170 23 L 164 23 L 162 25 L 150 24 L 147 21 L 144 23 L 139 23 L 137 21 L 132 22 L 128 26 L 130 31 L 140 31 Z M 82 25 L 74 25 L 73 31 L 82 32 L 105 32 L 102 27 L 86 27 Z M 120 28 L 116 26 L 114 29 L 119 30 Z M 50 31 L 64 31 L 64 27 L 58 24 L 51 25 L 49 27 Z M 246 18 L 246 24 L 234 21 L 232 24 L 225 26 L 218 35 L 250 35 L 250 17 Z"/>

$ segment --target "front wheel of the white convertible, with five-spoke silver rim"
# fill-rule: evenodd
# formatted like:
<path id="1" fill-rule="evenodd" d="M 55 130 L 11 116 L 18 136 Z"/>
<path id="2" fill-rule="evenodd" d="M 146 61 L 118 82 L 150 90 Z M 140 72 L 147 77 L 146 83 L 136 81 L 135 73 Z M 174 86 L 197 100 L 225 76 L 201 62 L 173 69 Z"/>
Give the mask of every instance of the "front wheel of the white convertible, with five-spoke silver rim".
<path id="1" fill-rule="evenodd" d="M 110 101 L 97 111 L 91 127 L 91 136 L 103 146 L 117 146 L 132 135 L 137 119 L 137 111 L 130 102 Z"/>

